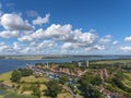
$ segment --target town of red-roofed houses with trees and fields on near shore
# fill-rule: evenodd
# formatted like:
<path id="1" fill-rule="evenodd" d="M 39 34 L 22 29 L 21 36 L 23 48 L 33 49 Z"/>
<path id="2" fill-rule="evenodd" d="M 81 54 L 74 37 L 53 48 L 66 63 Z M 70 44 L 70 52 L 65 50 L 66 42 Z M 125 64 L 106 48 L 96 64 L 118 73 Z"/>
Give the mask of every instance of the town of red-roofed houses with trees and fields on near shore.
<path id="1" fill-rule="evenodd" d="M 8 86 L 10 89 L 19 90 L 19 95 L 34 95 L 36 98 L 57 97 L 60 93 L 70 94 L 64 95 L 64 98 L 130 98 L 130 60 L 83 60 L 70 63 L 47 61 L 35 65 L 26 64 L 25 68 L 14 70 Z M 48 81 L 37 81 L 41 78 Z M 7 82 L 1 84 L 7 86 Z M 32 91 L 34 85 L 38 93 Z M 53 86 L 59 88 L 58 91 L 57 88 L 52 89 Z"/>

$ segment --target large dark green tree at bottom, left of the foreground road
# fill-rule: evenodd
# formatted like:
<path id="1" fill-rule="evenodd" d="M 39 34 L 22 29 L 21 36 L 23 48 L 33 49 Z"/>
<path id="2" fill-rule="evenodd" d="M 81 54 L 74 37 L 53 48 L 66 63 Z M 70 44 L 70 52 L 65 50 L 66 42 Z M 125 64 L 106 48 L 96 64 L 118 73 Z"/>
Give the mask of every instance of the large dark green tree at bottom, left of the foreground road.
<path id="1" fill-rule="evenodd" d="M 61 93 L 62 87 L 58 84 L 57 81 L 52 79 L 47 83 L 46 95 L 56 98 L 59 93 Z"/>

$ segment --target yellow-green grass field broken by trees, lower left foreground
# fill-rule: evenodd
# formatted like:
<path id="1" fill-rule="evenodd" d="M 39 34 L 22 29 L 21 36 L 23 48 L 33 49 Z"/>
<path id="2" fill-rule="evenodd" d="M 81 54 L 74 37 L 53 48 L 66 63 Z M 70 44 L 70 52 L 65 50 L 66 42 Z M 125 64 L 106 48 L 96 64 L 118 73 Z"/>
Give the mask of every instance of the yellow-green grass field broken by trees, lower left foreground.
<path id="1" fill-rule="evenodd" d="M 38 78 L 36 78 L 35 76 L 26 76 L 26 77 L 22 77 L 21 81 L 20 81 L 20 83 L 16 84 L 16 83 L 12 83 L 10 81 L 11 73 L 12 72 L 7 72 L 7 73 L 1 74 L 0 75 L 0 81 L 3 84 L 5 84 L 8 86 L 11 86 L 11 87 L 12 87 L 12 85 L 17 86 L 20 84 L 21 88 L 19 88 L 16 91 L 13 91 L 13 93 L 16 93 L 17 96 L 19 95 L 21 96 L 21 91 L 22 91 L 22 87 L 23 86 L 29 87 L 32 85 L 32 83 L 40 83 L 40 88 L 39 88 L 40 90 L 47 89 L 46 85 L 43 84 L 43 83 L 47 83 L 49 81 L 46 77 L 38 77 Z M 9 90 L 9 93 L 10 93 L 10 90 Z M 25 91 L 23 91 L 22 95 L 28 95 L 28 98 L 34 98 L 34 97 L 29 97 L 31 94 L 32 94 L 31 90 L 25 90 Z M 3 98 L 3 95 L 0 95 L 0 98 Z M 50 98 L 50 97 L 41 96 L 40 98 Z M 57 98 L 73 98 L 73 97 L 72 97 L 72 95 L 70 93 L 61 93 L 61 94 L 58 95 Z"/>

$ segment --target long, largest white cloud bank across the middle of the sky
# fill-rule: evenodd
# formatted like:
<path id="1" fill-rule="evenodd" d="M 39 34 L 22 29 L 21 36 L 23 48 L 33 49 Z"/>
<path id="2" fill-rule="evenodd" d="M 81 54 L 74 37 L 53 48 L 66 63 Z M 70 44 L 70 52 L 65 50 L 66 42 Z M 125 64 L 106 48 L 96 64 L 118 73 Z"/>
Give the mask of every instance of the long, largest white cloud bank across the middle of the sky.
<path id="1" fill-rule="evenodd" d="M 50 38 L 52 40 L 63 42 L 74 42 L 76 46 L 87 47 L 95 44 L 98 39 L 98 36 L 95 35 L 95 33 L 92 33 L 91 30 L 86 33 L 81 32 L 81 29 L 73 30 L 70 24 L 52 24 L 45 30 L 43 28 L 39 28 L 31 35 L 22 36 L 21 38 L 19 38 L 19 40 L 32 41 L 43 38 Z"/>

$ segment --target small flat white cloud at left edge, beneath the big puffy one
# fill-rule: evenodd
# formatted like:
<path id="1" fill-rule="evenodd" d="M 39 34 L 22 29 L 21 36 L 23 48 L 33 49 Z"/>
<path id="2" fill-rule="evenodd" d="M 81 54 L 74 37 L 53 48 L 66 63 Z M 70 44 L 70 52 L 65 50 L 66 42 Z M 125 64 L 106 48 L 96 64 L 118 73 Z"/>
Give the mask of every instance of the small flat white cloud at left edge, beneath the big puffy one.
<path id="1" fill-rule="evenodd" d="M 19 37 L 19 32 L 3 30 L 3 32 L 0 32 L 0 37 L 2 37 L 2 38 Z"/>

